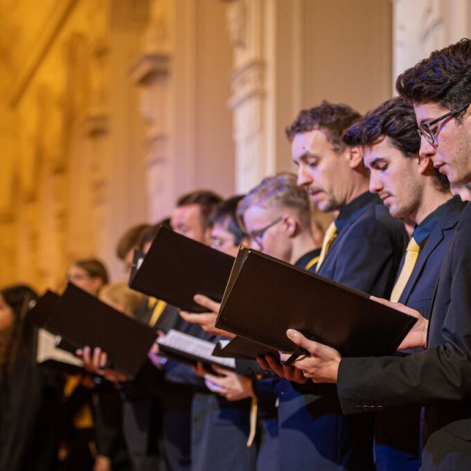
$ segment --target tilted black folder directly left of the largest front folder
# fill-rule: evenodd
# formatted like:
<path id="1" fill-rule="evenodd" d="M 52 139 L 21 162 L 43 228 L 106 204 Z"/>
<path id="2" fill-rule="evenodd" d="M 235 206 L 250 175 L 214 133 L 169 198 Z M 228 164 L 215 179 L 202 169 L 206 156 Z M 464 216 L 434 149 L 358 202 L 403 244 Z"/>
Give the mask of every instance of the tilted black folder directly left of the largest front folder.
<path id="1" fill-rule="evenodd" d="M 206 312 L 193 296 L 221 301 L 233 262 L 229 255 L 160 226 L 130 287 L 186 311 Z"/>

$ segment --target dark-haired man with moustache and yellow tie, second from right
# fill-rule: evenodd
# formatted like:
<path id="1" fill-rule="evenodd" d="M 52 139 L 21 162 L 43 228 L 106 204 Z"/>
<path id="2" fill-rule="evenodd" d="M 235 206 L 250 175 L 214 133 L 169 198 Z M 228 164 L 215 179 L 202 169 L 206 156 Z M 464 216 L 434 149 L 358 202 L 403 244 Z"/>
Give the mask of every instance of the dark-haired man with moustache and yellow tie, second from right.
<path id="1" fill-rule="evenodd" d="M 391 301 L 429 317 L 443 257 L 465 204 L 452 197 L 445 175 L 419 157 L 420 137 L 414 107 L 393 98 L 346 131 L 348 145 L 362 145 L 370 169 L 370 191 L 380 195 L 389 213 L 415 225 Z M 416 256 L 412 249 L 416 247 Z M 415 471 L 419 460 L 420 407 L 381 411 L 375 417 L 377 471 Z"/>

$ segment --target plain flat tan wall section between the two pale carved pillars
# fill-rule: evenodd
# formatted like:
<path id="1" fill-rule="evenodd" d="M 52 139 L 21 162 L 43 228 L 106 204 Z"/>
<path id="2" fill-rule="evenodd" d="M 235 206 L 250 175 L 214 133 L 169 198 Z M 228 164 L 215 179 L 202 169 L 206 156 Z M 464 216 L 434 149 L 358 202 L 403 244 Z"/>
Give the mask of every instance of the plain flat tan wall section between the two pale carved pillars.
<path id="1" fill-rule="evenodd" d="M 321 100 L 366 112 L 391 98 L 390 0 L 278 1 L 277 166 L 292 168 L 284 136 L 299 109 Z M 301 60 L 296 57 L 296 51 Z"/>

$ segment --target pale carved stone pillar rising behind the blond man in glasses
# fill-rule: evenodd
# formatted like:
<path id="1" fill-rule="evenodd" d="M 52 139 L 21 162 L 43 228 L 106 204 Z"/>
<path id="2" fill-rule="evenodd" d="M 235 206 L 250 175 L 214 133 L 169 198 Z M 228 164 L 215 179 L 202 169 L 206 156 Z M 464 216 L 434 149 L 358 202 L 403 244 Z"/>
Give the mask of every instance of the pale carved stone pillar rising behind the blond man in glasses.
<path id="1" fill-rule="evenodd" d="M 303 0 L 226 0 L 236 190 L 292 168 L 284 127 L 303 103 Z"/>

